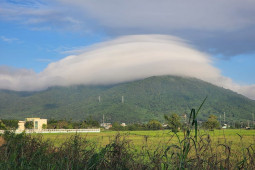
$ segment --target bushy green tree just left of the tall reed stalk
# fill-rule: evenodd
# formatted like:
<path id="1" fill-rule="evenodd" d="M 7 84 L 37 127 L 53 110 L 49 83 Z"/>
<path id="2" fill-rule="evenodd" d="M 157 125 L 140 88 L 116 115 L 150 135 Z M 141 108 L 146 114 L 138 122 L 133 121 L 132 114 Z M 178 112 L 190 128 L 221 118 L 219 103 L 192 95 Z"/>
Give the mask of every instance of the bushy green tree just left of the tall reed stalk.
<path id="1" fill-rule="evenodd" d="M 181 122 L 180 117 L 176 113 L 171 114 L 170 116 L 164 115 L 164 118 L 172 132 L 176 133 L 179 131 L 178 129 L 181 127 Z"/>

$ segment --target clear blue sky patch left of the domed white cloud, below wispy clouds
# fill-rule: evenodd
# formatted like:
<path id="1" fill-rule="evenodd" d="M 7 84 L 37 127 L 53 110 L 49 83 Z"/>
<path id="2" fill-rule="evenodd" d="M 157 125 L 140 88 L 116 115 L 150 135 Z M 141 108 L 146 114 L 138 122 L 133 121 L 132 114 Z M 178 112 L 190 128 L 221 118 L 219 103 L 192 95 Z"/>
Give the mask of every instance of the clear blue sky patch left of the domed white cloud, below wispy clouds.
<path id="1" fill-rule="evenodd" d="M 31 30 L 27 25 L 0 22 L 1 65 L 40 72 L 50 62 L 68 54 L 65 51 L 89 46 L 104 39 L 102 34 L 83 35 L 65 30 Z"/>

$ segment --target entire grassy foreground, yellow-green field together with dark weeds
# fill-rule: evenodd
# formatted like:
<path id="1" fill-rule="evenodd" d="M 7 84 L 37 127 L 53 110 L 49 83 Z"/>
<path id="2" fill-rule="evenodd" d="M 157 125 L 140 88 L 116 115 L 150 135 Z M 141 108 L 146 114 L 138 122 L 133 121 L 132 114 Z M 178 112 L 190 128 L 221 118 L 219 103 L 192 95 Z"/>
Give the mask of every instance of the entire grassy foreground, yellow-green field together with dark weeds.
<path id="1" fill-rule="evenodd" d="M 254 169 L 254 130 L 4 134 L 0 169 Z M 188 139 L 188 140 L 187 140 Z"/>

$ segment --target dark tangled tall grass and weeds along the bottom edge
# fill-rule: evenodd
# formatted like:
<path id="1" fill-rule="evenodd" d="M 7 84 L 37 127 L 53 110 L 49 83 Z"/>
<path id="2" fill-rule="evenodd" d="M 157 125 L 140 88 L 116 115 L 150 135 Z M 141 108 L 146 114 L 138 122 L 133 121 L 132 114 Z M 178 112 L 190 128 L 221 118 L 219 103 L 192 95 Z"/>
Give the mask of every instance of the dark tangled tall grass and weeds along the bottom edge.
<path id="1" fill-rule="evenodd" d="M 26 134 L 5 133 L 0 146 L 0 169 L 254 169 L 254 144 L 240 149 L 214 142 L 210 135 L 170 135 L 162 143 L 144 137 L 140 147 L 128 134 L 116 134 L 106 146 L 73 135 L 56 147 L 52 141 Z"/>

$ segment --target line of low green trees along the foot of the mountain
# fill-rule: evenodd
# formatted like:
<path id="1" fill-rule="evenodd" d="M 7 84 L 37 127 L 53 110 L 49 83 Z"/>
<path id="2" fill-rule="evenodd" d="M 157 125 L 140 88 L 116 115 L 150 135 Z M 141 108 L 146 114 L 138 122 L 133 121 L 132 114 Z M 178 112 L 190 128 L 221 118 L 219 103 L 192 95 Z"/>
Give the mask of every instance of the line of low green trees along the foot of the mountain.
<path id="1" fill-rule="evenodd" d="M 178 114 L 164 115 L 165 123 L 162 124 L 158 120 L 150 120 L 147 123 L 133 123 L 127 126 L 122 126 L 119 122 L 114 122 L 110 130 L 115 131 L 137 131 L 137 130 L 163 130 L 170 129 L 172 132 L 178 132 L 181 129 L 185 130 L 187 122 L 181 120 Z M 18 120 L 0 120 L 0 130 L 15 130 L 18 128 Z M 217 116 L 210 115 L 207 121 L 202 122 L 200 128 L 214 130 L 220 129 L 222 127 L 221 123 L 218 121 Z M 72 120 L 55 120 L 49 119 L 48 124 L 43 126 L 43 129 L 86 129 L 86 128 L 99 128 L 100 123 L 89 117 L 81 121 Z M 228 128 L 245 128 L 248 127 L 246 122 L 232 122 L 231 126 Z M 33 122 L 26 122 L 25 128 L 32 129 Z M 252 125 L 251 128 L 254 128 Z"/>

